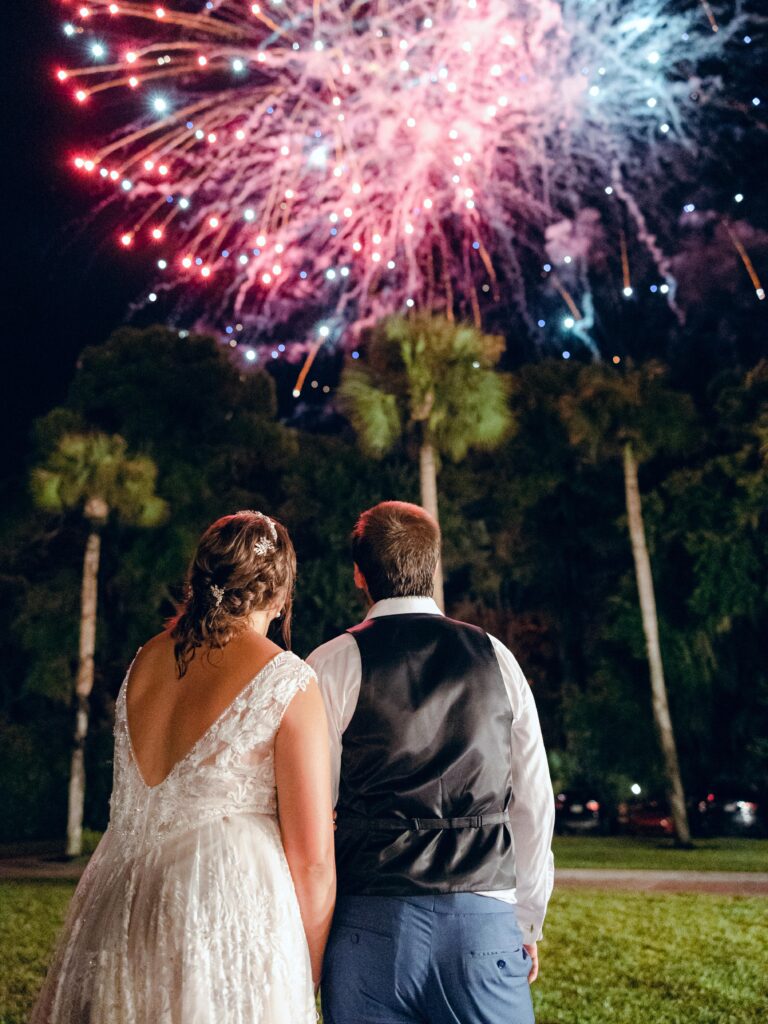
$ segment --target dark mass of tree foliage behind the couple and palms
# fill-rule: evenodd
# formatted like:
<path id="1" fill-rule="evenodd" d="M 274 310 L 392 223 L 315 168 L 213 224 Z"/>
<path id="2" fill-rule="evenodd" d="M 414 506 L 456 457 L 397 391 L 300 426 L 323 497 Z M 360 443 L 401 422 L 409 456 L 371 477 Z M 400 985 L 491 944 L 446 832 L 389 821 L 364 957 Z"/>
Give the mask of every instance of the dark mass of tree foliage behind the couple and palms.
<path id="1" fill-rule="evenodd" d="M 643 635 L 626 536 L 621 464 L 586 462 L 563 398 L 579 367 L 512 375 L 514 436 L 440 474 L 449 613 L 484 626 L 530 680 L 556 785 L 606 796 L 659 782 Z M 678 380 L 681 390 L 686 382 Z M 687 387 L 697 434 L 641 467 L 670 703 L 686 787 L 768 788 L 768 365 Z M 83 352 L 65 406 L 36 425 L 31 462 L 67 431 L 119 433 L 158 466 L 168 520 L 105 527 L 99 580 L 86 824 L 103 827 L 113 701 L 136 648 L 180 594 L 201 530 L 238 508 L 286 522 L 299 559 L 294 647 L 306 654 L 362 614 L 348 536 L 358 512 L 418 500 L 403 451 L 372 462 L 351 430 L 279 422 L 272 382 L 242 373 L 206 337 L 122 330 Z M 0 513 L 0 785 L 3 839 L 63 834 L 77 662 L 83 526 L 36 512 L 23 493 Z"/>

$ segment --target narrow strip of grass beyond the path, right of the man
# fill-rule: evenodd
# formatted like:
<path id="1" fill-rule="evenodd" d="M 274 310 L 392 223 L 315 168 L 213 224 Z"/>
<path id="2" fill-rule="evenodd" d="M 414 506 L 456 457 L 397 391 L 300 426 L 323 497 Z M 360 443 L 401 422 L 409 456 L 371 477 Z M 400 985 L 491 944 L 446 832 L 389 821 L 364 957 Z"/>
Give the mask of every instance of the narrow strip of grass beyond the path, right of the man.
<path id="1" fill-rule="evenodd" d="M 768 840 L 697 839 L 676 850 L 669 839 L 556 836 L 555 867 L 640 867 L 665 871 L 768 871 Z"/>

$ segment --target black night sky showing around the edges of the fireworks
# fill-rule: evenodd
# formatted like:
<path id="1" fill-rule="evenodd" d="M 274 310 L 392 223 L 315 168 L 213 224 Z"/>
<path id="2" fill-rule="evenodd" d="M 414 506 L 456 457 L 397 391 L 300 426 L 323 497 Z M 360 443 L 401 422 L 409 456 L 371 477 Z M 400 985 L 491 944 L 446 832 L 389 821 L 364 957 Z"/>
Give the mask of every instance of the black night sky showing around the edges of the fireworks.
<path id="1" fill-rule="evenodd" d="M 56 0 L 25 0 L 6 4 L 4 15 L 8 19 L 8 74 L 3 111 L 8 144 L 3 166 L 8 182 L 2 247 L 6 261 L 6 397 L 0 409 L 5 457 L 0 478 L 7 483 L 24 466 L 32 419 L 63 399 L 78 353 L 103 341 L 126 321 L 131 301 L 145 292 L 153 270 L 144 255 L 120 251 L 114 232 L 103 222 L 94 222 L 98 191 L 71 167 L 78 146 L 103 135 L 111 122 L 104 104 L 78 106 L 55 80 L 56 68 L 66 66 L 71 56 L 71 45 L 61 32 L 66 6 Z M 760 95 L 760 55 L 764 52 L 762 31 L 756 29 L 753 36 L 752 46 L 734 50 L 726 70 L 725 91 L 734 105 L 732 123 L 715 152 L 694 155 L 690 168 L 681 173 L 680 196 L 673 189 L 669 201 L 695 198 L 699 208 L 749 217 L 758 230 L 765 231 L 766 145 L 758 122 L 768 99 L 762 109 L 750 109 L 749 97 Z M 738 106 L 746 113 L 739 114 Z M 668 190 L 668 183 L 659 186 Z M 740 207 L 732 203 L 736 191 L 748 197 Z M 675 328 L 663 301 L 657 296 L 649 298 L 645 282 L 638 282 L 636 300 L 617 300 L 616 283 L 609 280 L 609 271 L 605 280 L 609 294 L 596 295 L 600 316 L 597 337 L 606 356 L 614 351 L 636 359 L 662 355 L 672 362 L 685 386 L 702 387 L 721 369 L 750 366 L 764 354 L 768 301 L 757 302 L 735 253 L 723 246 L 722 240 L 713 242 L 711 225 L 676 227 L 673 218 L 672 230 L 676 237 L 668 248 L 673 253 L 676 247 L 691 252 L 688 275 L 693 280 L 697 275 L 698 250 L 701 273 L 711 276 L 711 287 L 703 296 L 689 297 L 686 329 L 681 332 Z M 761 232 L 752 256 L 764 279 L 768 279 L 767 255 L 766 236 Z M 637 263 L 635 254 L 631 256 Z M 722 268 L 714 267 L 713 261 L 719 260 Z M 536 291 L 531 295 L 540 303 L 538 310 L 531 310 L 535 315 L 544 313 L 550 318 L 551 313 L 554 321 L 557 309 L 557 318 L 561 317 L 556 297 L 553 301 Z M 151 309 L 156 315 L 163 312 Z M 489 326 L 504 331 L 509 339 L 507 369 L 542 354 L 555 354 L 566 346 L 579 347 L 574 339 L 568 344 L 567 338 L 558 337 L 551 329 L 531 337 L 513 310 L 498 309 L 490 318 L 495 323 Z M 139 325 L 151 319 L 147 309 L 132 317 Z M 321 384 L 333 384 L 340 364 L 338 353 L 330 354 L 318 360 L 312 376 L 319 377 Z M 322 388 L 307 390 L 307 400 L 297 410 L 290 400 L 296 368 L 281 360 L 280 366 L 270 365 L 270 370 L 279 383 L 281 413 L 305 426 L 328 427 L 328 417 L 319 412 Z M 331 419 L 332 429 L 334 423 Z"/>

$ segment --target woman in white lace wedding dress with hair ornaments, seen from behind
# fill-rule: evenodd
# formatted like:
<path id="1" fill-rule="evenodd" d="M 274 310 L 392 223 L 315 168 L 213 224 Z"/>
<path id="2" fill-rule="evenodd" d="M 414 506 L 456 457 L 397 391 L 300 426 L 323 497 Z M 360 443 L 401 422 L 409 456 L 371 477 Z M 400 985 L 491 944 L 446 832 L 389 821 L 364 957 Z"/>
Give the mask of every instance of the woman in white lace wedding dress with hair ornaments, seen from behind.
<path id="1" fill-rule="evenodd" d="M 328 733 L 290 643 L 296 556 L 213 523 L 116 706 L 111 819 L 32 1024 L 309 1024 L 335 899 Z"/>

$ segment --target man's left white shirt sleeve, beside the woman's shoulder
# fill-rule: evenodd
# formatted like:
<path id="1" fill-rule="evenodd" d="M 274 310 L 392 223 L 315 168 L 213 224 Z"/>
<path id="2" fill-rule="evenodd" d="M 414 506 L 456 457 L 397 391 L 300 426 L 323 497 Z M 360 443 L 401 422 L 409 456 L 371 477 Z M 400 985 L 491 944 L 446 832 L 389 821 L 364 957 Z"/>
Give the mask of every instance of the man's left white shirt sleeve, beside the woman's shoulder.
<path id="1" fill-rule="evenodd" d="M 360 691 L 361 666 L 357 644 L 348 633 L 317 647 L 306 659 L 317 677 L 328 718 L 331 750 L 331 795 L 339 799 L 342 735 L 349 725 Z"/>

